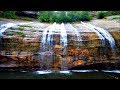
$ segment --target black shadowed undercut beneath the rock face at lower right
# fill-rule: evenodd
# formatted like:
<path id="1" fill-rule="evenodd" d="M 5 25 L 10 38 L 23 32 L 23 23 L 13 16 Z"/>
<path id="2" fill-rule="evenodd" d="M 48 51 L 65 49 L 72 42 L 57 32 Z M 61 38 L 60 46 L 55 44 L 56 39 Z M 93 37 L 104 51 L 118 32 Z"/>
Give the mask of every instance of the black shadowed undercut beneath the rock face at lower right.
<path id="1" fill-rule="evenodd" d="M 96 61 L 92 64 L 87 63 L 70 68 L 70 70 L 119 70 L 120 60 Z"/>

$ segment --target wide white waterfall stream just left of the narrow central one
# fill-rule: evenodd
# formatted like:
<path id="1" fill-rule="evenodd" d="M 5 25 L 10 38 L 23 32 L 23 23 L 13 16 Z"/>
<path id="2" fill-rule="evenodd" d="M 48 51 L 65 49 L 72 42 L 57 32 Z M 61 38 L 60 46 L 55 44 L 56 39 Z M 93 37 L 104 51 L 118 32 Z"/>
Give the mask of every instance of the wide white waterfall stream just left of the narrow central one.
<path id="1" fill-rule="evenodd" d="M 42 33 L 42 42 L 40 47 L 40 66 L 41 69 L 50 69 L 50 62 L 53 58 L 53 30 L 56 23 L 46 28 Z"/>

